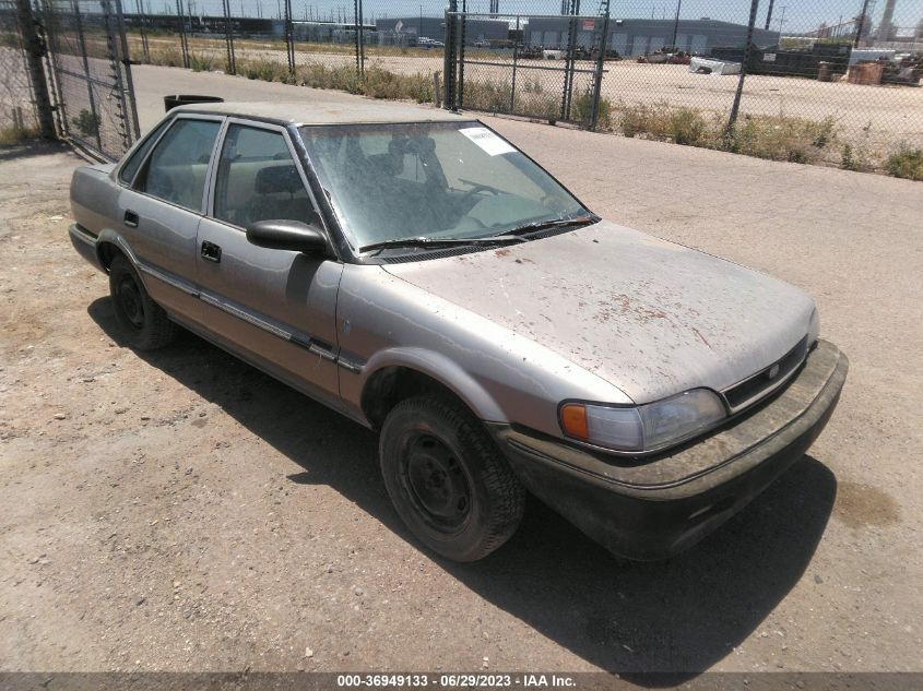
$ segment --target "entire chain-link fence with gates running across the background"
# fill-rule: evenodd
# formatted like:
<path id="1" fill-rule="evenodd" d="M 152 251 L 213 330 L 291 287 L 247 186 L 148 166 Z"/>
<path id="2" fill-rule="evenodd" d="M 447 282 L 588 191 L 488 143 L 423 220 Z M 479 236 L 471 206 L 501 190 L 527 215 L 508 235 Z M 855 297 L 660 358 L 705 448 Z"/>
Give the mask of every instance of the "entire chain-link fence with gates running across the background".
<path id="1" fill-rule="evenodd" d="M 109 157 L 137 132 L 130 56 L 767 158 L 923 170 L 919 1 L 123 0 L 125 14 L 120 1 L 33 0 L 59 129 Z M 0 3 L 11 65 L 0 122 L 27 128 L 31 68 L 14 0 Z"/>

